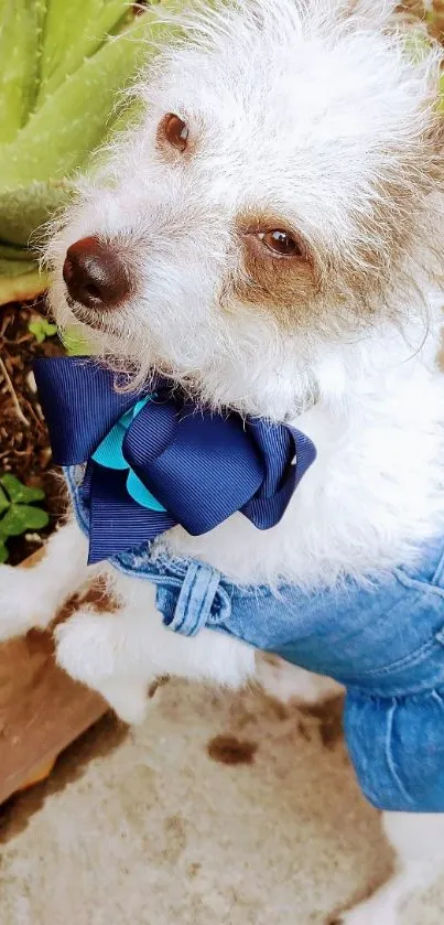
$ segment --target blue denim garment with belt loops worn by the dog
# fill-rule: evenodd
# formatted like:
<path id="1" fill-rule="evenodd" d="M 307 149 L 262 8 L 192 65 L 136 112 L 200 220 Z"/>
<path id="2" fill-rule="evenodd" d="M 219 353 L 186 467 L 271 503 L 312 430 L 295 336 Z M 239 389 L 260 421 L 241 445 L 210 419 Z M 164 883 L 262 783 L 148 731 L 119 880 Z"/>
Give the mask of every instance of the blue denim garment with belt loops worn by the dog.
<path id="1" fill-rule="evenodd" d="M 87 534 L 76 473 L 66 475 Z M 444 811 L 444 537 L 423 544 L 414 568 L 310 592 L 234 584 L 193 559 L 152 558 L 148 545 L 111 561 L 156 585 L 172 632 L 228 633 L 345 685 L 345 736 L 367 799 Z"/>

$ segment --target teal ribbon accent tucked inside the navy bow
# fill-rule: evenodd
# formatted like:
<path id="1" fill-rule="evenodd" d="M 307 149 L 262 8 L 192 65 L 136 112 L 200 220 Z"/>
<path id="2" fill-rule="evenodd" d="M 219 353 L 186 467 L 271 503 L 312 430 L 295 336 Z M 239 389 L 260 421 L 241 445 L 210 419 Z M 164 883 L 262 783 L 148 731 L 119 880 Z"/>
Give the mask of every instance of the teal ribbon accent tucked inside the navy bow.
<path id="1" fill-rule="evenodd" d="M 133 472 L 131 466 L 128 465 L 128 462 L 123 456 L 124 434 L 134 418 L 139 415 L 139 411 L 141 411 L 147 402 L 151 401 L 151 399 L 152 396 L 150 395 L 147 398 L 140 399 L 133 408 L 130 408 L 129 411 L 126 411 L 126 413 L 119 418 L 118 422 L 113 426 L 113 428 L 111 428 L 109 433 L 107 433 L 101 443 L 97 447 L 96 452 L 93 454 L 93 459 L 95 462 L 104 465 L 105 469 L 128 469 L 127 492 L 132 499 L 136 501 L 137 504 L 140 504 L 141 507 L 148 507 L 149 510 L 166 510 L 166 508 L 161 505 L 154 495 L 145 488 L 143 482 L 141 482 L 136 475 L 136 472 Z"/>

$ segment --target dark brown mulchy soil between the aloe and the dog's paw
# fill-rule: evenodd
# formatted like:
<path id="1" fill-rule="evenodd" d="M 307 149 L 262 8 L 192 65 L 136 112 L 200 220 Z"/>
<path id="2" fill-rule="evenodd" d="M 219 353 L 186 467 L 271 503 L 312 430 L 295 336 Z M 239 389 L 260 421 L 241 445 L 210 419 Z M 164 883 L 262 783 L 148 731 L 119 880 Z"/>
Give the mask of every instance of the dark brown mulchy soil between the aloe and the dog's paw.
<path id="1" fill-rule="evenodd" d="M 39 344 L 30 332 L 30 322 L 44 316 L 43 299 L 33 305 L 0 308 L 0 475 L 12 472 L 26 485 L 43 488 L 46 497 L 42 506 L 50 514 L 44 530 L 8 540 L 10 564 L 34 552 L 65 509 L 65 488 L 59 471 L 51 465 L 47 430 L 32 374 L 35 357 L 64 353 L 57 336 Z"/>

